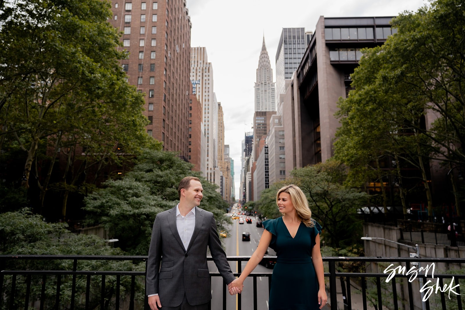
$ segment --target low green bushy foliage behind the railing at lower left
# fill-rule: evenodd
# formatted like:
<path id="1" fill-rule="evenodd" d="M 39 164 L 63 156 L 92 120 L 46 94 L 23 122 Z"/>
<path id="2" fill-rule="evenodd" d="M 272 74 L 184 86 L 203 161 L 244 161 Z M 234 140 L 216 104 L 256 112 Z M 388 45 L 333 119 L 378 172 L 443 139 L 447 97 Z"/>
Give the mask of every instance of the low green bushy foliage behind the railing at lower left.
<path id="1" fill-rule="evenodd" d="M 106 245 L 105 240 L 94 235 L 76 235 L 66 229 L 63 223 L 46 223 L 39 215 L 31 214 L 27 209 L 3 213 L 0 217 L 0 253 L 2 255 L 124 255 L 120 249 Z M 73 270 L 73 260 L 9 260 L 4 266 L 6 270 Z M 82 260 L 77 265 L 78 270 L 113 270 L 113 271 L 143 271 L 145 264 L 133 264 L 131 261 Z M 70 303 L 73 277 L 62 275 L 60 285 L 60 304 Z M 26 298 L 26 276 L 17 276 L 14 309 L 24 306 Z M 32 276 L 30 279 L 30 300 L 39 300 L 41 294 L 42 276 Z M 12 277 L 5 276 L 3 285 L 11 288 Z M 45 299 L 54 300 L 56 295 L 57 277 L 46 277 Z M 120 302 L 131 290 L 131 278 L 121 277 Z M 86 276 L 76 278 L 76 296 L 86 293 Z M 104 309 L 114 309 L 116 294 L 116 276 L 106 276 L 103 299 Z M 101 300 L 101 277 L 93 276 L 90 287 L 90 309 L 94 309 Z M 143 300 L 144 281 L 136 281 L 136 299 Z M 8 307 L 11 294 L 6 294 L 3 306 Z M 84 300 L 75 299 L 75 309 L 86 309 Z M 7 309 L 7 308 L 3 308 Z M 46 303 L 44 309 L 55 309 L 54 303 Z"/>

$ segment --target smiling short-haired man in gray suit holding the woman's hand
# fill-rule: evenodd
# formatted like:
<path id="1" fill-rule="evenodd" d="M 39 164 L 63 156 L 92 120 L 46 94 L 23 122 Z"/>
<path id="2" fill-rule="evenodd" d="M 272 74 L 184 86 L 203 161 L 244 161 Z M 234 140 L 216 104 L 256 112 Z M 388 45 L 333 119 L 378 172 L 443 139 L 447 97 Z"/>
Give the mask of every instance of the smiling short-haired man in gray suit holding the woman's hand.
<path id="1" fill-rule="evenodd" d="M 179 204 L 155 218 L 146 275 L 152 310 L 162 306 L 163 310 L 208 309 L 212 294 L 207 245 L 225 282 L 229 285 L 235 279 L 221 248 L 213 213 L 198 207 L 202 191 L 199 178 L 183 178 L 178 187 Z"/>

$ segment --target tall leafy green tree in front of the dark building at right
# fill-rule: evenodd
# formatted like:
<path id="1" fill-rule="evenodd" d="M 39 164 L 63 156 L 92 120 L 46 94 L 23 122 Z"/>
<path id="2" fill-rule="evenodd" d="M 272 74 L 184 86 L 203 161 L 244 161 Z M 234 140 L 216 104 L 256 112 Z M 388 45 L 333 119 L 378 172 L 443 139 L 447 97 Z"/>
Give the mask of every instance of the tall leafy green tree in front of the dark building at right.
<path id="1" fill-rule="evenodd" d="M 399 14 L 392 27 L 397 33 L 383 46 L 363 50 L 354 89 L 339 101 L 335 155 L 351 168 L 351 181 L 398 180 L 404 209 L 407 193 L 422 188 L 432 216 L 430 160 L 448 169 L 465 164 L 465 7 L 432 1 Z M 393 162 L 389 172 L 382 161 Z"/>

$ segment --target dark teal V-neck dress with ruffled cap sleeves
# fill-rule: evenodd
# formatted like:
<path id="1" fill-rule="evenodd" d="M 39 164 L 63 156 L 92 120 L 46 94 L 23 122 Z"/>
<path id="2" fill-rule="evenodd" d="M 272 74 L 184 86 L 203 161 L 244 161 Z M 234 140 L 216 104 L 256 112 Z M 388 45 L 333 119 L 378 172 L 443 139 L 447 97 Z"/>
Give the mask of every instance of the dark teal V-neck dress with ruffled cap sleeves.
<path id="1" fill-rule="evenodd" d="M 278 257 L 271 277 L 269 310 L 319 309 L 319 285 L 312 249 L 321 226 L 314 222 L 313 227 L 300 223 L 294 238 L 283 218 L 263 222 L 265 229 L 272 233 L 270 248 Z"/>

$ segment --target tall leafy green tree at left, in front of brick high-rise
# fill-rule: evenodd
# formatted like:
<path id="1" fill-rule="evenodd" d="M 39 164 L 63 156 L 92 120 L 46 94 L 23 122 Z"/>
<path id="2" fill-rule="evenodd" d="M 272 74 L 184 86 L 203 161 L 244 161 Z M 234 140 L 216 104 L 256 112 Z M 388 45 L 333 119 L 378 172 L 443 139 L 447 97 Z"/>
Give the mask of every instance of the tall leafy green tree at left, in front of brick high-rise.
<path id="1" fill-rule="evenodd" d="M 68 194 L 83 174 L 118 162 L 121 149 L 137 154 L 151 143 L 143 94 L 120 68 L 118 59 L 127 55 L 118 51 L 120 35 L 107 22 L 110 2 L 10 0 L 1 6 L 0 64 L 7 65 L 0 66 L 0 148 L 16 140 L 25 154 L 24 185 L 33 173 L 41 204 L 55 158 L 66 154 L 66 171 L 54 185 L 63 191 L 65 218 Z M 43 179 L 37 177 L 41 146 L 50 158 Z"/>

